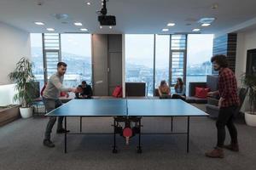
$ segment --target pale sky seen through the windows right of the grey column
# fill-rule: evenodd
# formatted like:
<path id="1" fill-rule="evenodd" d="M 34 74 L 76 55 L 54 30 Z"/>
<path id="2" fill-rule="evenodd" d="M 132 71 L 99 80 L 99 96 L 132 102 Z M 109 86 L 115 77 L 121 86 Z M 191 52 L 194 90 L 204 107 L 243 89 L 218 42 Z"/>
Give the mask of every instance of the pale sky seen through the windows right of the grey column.
<path id="1" fill-rule="evenodd" d="M 189 34 L 188 65 L 199 65 L 212 57 L 213 34 Z M 170 37 L 156 36 L 156 65 L 168 66 Z M 125 35 L 125 58 L 127 62 L 153 67 L 154 35 Z M 152 65 L 152 66 L 151 66 Z"/>

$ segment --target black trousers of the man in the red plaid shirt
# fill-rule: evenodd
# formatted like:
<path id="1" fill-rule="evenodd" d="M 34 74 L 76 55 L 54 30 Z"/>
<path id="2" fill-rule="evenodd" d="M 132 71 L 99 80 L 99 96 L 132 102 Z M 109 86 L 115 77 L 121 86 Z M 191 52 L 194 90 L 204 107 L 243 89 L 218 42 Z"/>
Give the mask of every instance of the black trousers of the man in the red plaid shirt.
<path id="1" fill-rule="evenodd" d="M 231 137 L 231 144 L 237 144 L 237 131 L 233 122 L 236 106 L 222 107 L 218 111 L 218 119 L 216 122 L 218 143 L 217 146 L 222 148 L 225 140 L 225 126 L 228 127 Z"/>

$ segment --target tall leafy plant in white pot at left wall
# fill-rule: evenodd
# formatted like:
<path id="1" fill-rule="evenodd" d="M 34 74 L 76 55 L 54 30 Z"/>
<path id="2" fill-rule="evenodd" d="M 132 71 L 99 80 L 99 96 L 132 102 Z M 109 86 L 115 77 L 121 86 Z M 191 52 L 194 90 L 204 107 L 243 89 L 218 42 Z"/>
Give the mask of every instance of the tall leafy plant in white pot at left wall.
<path id="1" fill-rule="evenodd" d="M 23 118 L 32 116 L 34 78 L 32 63 L 25 57 L 22 57 L 16 64 L 15 71 L 9 73 L 9 79 L 16 83 L 17 94 L 15 94 L 14 100 L 20 100 L 20 115 Z"/>

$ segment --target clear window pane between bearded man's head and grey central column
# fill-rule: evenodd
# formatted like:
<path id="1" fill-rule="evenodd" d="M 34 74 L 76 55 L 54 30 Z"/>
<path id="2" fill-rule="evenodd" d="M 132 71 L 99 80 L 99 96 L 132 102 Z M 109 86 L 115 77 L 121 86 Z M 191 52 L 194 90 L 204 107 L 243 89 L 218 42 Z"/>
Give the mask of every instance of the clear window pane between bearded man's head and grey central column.
<path id="1" fill-rule="evenodd" d="M 67 63 L 64 85 L 76 87 L 91 83 L 90 34 L 61 34 L 61 61 Z"/>

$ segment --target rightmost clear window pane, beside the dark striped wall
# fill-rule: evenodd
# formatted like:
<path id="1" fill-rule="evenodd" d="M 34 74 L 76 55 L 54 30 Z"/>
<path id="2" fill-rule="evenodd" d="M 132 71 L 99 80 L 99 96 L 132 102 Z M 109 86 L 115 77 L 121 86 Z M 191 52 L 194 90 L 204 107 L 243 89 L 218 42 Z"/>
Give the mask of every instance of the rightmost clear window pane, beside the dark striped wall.
<path id="1" fill-rule="evenodd" d="M 207 75 L 212 74 L 212 45 L 212 34 L 188 35 L 187 87 L 189 82 L 206 82 Z"/>

